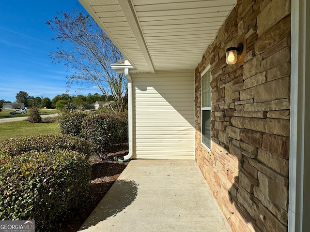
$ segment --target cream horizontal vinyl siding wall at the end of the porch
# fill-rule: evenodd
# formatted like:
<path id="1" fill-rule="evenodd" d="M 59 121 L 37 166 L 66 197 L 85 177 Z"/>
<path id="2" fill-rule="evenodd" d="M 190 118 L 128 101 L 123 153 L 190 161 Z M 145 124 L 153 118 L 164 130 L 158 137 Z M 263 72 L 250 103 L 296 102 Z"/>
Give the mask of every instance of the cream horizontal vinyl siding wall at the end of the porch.
<path id="1" fill-rule="evenodd" d="M 194 159 L 194 72 L 132 74 L 137 159 Z"/>

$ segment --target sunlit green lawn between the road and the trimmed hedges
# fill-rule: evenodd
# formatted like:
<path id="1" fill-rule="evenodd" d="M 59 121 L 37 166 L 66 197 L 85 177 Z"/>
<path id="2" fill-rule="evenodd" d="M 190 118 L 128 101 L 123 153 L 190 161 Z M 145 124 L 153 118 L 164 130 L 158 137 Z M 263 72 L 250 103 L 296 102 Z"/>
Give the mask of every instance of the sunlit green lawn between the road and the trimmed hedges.
<path id="1" fill-rule="evenodd" d="M 26 120 L 0 123 L 0 142 L 29 135 L 60 133 L 59 123 L 30 123 Z"/>

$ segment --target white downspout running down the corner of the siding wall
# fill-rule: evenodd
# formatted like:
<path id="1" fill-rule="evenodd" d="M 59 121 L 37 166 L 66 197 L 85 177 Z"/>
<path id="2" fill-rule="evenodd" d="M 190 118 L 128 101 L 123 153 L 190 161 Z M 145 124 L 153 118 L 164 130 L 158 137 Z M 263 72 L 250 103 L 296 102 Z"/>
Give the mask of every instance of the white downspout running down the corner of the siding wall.
<path id="1" fill-rule="evenodd" d="M 132 156 L 133 152 L 133 143 L 132 143 L 132 137 L 133 137 L 133 130 L 132 130 L 132 81 L 129 74 L 129 69 L 124 69 L 125 76 L 128 80 L 128 145 L 129 145 L 129 151 L 128 154 L 124 156 L 124 160 L 129 160 Z"/>

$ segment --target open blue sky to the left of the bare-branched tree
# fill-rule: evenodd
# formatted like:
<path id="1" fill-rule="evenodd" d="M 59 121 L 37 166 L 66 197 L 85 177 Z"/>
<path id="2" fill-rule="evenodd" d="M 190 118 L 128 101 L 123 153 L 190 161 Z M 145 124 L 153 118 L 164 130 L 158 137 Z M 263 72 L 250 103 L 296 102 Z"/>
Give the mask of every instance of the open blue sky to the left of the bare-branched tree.
<path id="1" fill-rule="evenodd" d="M 0 1 L 0 100 L 14 102 L 19 91 L 51 100 L 66 92 L 66 76 L 73 72 L 49 58 L 49 52 L 64 45 L 51 40 L 55 34 L 45 22 L 73 8 L 84 11 L 78 0 Z M 68 94 L 95 92 L 100 93 L 85 85 L 69 88 Z"/>

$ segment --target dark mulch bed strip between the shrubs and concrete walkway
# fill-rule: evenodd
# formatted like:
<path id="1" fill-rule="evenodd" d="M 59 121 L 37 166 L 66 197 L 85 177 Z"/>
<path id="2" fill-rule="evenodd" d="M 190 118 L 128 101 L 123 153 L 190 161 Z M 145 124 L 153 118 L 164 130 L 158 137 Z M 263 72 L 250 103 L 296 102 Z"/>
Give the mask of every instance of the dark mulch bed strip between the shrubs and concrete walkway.
<path id="1" fill-rule="evenodd" d="M 127 163 L 120 163 L 113 158 L 121 158 L 128 154 L 128 144 L 118 145 L 114 152 L 109 153 L 107 159 L 101 160 L 97 156 L 91 157 L 92 164 L 92 182 L 91 182 L 91 200 L 87 206 L 76 209 L 78 216 L 68 221 L 60 232 L 77 232 L 84 221 L 93 212 L 94 208 L 101 201 L 115 180 L 124 171 Z"/>

